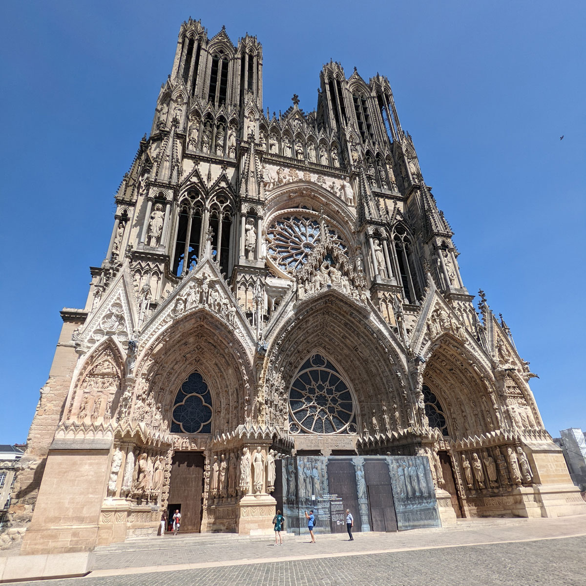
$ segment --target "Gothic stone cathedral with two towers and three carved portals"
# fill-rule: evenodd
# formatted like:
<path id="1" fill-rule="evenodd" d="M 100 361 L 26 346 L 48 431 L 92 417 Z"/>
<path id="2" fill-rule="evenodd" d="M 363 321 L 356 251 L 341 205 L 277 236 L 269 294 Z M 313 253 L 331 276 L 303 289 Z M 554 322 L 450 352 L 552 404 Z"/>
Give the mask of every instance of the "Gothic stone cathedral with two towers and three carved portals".
<path id="1" fill-rule="evenodd" d="M 389 80 L 319 81 L 314 110 L 271 113 L 257 38 L 182 24 L 86 304 L 61 312 L 2 547 L 88 551 L 179 506 L 186 531 L 262 533 L 285 462 L 325 491 L 316 456 L 417 456 L 444 525 L 584 512 Z"/>

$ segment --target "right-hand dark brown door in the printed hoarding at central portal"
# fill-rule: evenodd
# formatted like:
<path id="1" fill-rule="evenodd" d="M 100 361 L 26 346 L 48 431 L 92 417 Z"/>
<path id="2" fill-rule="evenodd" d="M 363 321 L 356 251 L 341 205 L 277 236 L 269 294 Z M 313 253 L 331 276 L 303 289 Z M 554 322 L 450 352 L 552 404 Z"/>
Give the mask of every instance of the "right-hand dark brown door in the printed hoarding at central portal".
<path id="1" fill-rule="evenodd" d="M 373 531 L 397 531 L 397 516 L 387 461 L 366 460 L 364 478 L 368 489 L 370 528 Z"/>

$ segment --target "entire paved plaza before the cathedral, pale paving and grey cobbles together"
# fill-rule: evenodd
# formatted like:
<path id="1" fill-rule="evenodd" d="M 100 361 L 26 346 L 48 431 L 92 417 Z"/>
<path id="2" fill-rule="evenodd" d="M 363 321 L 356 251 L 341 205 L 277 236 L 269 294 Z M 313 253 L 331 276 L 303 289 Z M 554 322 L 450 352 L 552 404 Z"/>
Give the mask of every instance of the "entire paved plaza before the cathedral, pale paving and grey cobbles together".
<path id="1" fill-rule="evenodd" d="M 98 548 L 87 577 L 43 584 L 586 584 L 586 516 L 462 520 L 451 529 L 356 533 L 353 542 L 344 534 L 318 534 L 315 545 L 304 535 L 286 535 L 282 546 L 274 546 L 270 537 L 203 534 L 134 539 Z"/>

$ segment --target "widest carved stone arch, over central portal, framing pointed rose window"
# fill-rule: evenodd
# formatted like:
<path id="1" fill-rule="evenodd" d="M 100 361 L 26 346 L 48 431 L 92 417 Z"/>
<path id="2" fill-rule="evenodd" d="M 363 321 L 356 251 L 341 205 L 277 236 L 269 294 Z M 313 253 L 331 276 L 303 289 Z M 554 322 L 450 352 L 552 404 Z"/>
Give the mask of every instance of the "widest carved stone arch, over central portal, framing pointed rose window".
<path id="1" fill-rule="evenodd" d="M 269 386 L 278 380 L 286 393 L 306 357 L 318 351 L 339 365 L 341 372 L 349 373 L 346 380 L 355 391 L 359 430 L 363 421 L 370 421 L 373 410 L 380 420 L 381 401 L 402 409 L 404 366 L 397 350 L 369 321 L 366 308 L 335 291 L 299 305 L 271 336 L 265 362 Z M 285 424 L 284 414 L 279 415 Z M 407 421 L 404 411 L 401 417 Z"/>

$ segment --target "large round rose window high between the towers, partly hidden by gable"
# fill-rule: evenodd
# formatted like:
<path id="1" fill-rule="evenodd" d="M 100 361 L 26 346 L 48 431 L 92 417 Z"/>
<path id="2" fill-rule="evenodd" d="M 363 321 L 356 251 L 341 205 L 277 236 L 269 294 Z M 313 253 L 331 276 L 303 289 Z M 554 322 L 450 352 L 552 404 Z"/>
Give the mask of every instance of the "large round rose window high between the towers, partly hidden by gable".
<path id="1" fill-rule="evenodd" d="M 346 250 L 338 231 L 327 224 L 324 227 L 329 240 L 341 250 Z M 282 216 L 267 230 L 267 252 L 278 268 L 292 274 L 307 262 L 307 257 L 321 238 L 321 226 L 315 217 Z"/>

